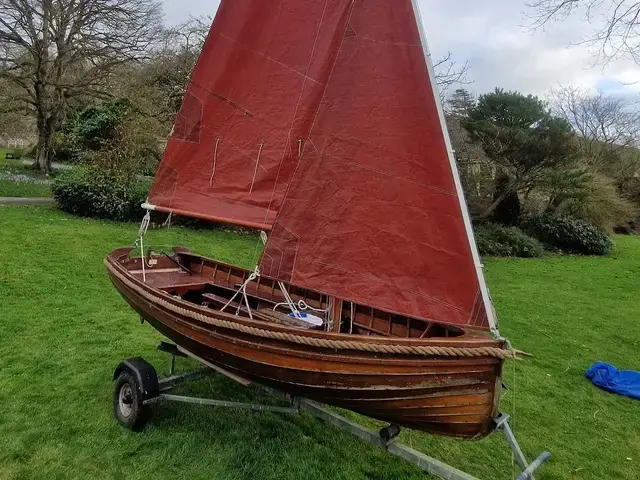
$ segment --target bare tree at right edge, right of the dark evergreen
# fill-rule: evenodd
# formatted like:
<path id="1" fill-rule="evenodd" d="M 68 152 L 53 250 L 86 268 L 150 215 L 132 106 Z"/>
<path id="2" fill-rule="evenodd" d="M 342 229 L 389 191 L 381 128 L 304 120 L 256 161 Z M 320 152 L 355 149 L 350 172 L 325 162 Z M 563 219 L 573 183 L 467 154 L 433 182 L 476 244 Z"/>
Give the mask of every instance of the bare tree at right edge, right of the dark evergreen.
<path id="1" fill-rule="evenodd" d="M 551 91 L 549 103 L 553 113 L 569 122 L 579 134 L 580 150 L 596 168 L 606 168 L 623 151 L 631 151 L 627 147 L 638 146 L 640 111 L 627 98 L 560 86 Z"/>

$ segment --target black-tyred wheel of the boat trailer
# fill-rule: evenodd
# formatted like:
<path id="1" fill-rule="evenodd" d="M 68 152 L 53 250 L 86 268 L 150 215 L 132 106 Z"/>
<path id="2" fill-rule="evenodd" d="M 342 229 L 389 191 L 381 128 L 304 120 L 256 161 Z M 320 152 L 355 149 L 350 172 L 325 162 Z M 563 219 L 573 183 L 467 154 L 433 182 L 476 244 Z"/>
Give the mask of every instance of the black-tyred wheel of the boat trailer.
<path id="1" fill-rule="evenodd" d="M 148 407 L 143 404 L 141 386 L 135 375 L 123 370 L 113 388 L 113 414 L 123 427 L 139 430 L 148 420 Z"/>

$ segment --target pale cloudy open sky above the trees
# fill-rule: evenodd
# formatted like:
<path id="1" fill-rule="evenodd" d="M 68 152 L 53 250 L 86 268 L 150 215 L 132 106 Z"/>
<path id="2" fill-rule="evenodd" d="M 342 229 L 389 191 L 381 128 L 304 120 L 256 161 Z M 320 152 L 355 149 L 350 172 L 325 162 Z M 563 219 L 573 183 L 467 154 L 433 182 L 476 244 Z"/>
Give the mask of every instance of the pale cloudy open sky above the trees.
<path id="1" fill-rule="evenodd" d="M 496 86 L 544 95 L 559 83 L 616 94 L 640 92 L 640 68 L 619 61 L 593 67 L 584 46 L 569 47 L 594 25 L 573 18 L 546 31 L 531 32 L 523 17 L 526 0 L 419 0 L 435 57 L 451 51 L 468 60 L 468 88 L 476 93 Z M 219 0 L 164 0 L 168 23 L 214 15 Z"/>

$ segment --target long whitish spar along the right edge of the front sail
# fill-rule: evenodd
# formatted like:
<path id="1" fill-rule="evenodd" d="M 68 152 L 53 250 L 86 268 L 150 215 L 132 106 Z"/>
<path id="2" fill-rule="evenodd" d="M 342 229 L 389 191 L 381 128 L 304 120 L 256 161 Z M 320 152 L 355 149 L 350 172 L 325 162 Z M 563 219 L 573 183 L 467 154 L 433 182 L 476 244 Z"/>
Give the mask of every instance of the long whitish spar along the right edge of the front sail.
<path id="1" fill-rule="evenodd" d="M 476 272 L 478 275 L 478 282 L 480 284 L 480 291 L 482 292 L 482 300 L 484 302 L 485 309 L 487 311 L 487 318 L 489 320 L 491 331 L 495 335 L 499 336 L 498 321 L 495 315 L 495 310 L 493 309 L 493 302 L 491 301 L 491 296 L 489 295 L 489 288 L 487 287 L 487 282 L 484 276 L 484 265 L 482 263 L 482 260 L 480 259 L 480 252 L 478 251 L 478 246 L 475 240 L 475 234 L 473 233 L 473 225 L 471 224 L 471 215 L 469 214 L 469 207 L 467 205 L 464 189 L 462 188 L 462 182 L 460 181 L 460 172 L 458 171 L 458 164 L 456 162 L 455 153 L 453 150 L 453 146 L 451 144 L 451 136 L 449 135 L 449 127 L 447 126 L 447 121 L 444 115 L 444 108 L 442 106 L 442 102 L 440 101 L 440 92 L 438 89 L 438 84 L 436 83 L 436 79 L 435 79 L 433 62 L 431 61 L 431 51 L 429 50 L 427 35 L 424 29 L 424 25 L 422 23 L 420 6 L 418 5 L 418 0 L 411 0 L 411 4 L 413 5 L 413 12 L 416 18 L 416 24 L 418 26 L 418 32 L 420 33 L 420 42 L 422 43 L 424 59 L 427 64 L 429 78 L 431 79 L 431 87 L 433 89 L 433 95 L 436 99 L 438 116 L 440 117 L 440 125 L 442 127 L 442 133 L 444 135 L 444 140 L 447 145 L 447 154 L 449 156 L 449 163 L 451 164 L 451 170 L 453 171 L 453 178 L 456 185 L 456 191 L 458 192 L 458 199 L 460 201 L 460 210 L 462 211 L 462 218 L 464 220 L 464 226 L 467 231 L 467 237 L 469 239 L 469 248 L 471 249 L 471 255 L 473 256 L 473 261 L 474 261 Z"/>

